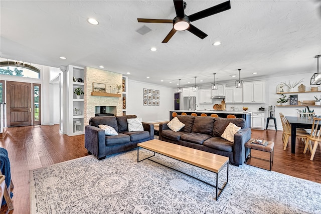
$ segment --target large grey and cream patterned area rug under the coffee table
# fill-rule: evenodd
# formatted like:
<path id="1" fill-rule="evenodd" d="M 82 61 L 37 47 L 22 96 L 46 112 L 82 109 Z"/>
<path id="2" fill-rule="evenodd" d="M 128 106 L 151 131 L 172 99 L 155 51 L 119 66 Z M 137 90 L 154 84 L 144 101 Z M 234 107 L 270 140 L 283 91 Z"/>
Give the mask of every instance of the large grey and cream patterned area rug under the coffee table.
<path id="1" fill-rule="evenodd" d="M 139 149 L 139 156 L 150 153 Z M 157 155 L 154 160 L 215 184 L 207 170 Z M 220 182 L 224 180 L 222 170 Z M 226 178 L 226 176 L 225 176 Z M 93 155 L 30 171 L 31 213 L 321 213 L 321 184 L 250 165 L 229 165 L 220 198 L 188 175 L 137 150 Z"/>

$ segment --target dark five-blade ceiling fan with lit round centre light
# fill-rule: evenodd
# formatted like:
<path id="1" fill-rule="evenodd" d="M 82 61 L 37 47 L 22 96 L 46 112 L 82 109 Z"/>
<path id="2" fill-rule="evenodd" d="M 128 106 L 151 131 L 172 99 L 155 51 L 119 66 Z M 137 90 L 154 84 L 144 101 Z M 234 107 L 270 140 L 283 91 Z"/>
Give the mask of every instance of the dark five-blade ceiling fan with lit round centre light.
<path id="1" fill-rule="evenodd" d="M 173 0 L 173 1 L 174 1 L 174 7 L 176 11 L 176 17 L 173 20 L 140 19 L 140 18 L 137 19 L 138 22 L 143 22 L 143 23 L 172 23 L 173 29 L 165 37 L 162 43 L 167 43 L 177 31 L 185 31 L 185 30 L 188 30 L 189 32 L 198 36 L 199 38 L 204 39 L 208 35 L 205 34 L 203 31 L 201 31 L 200 29 L 196 28 L 194 25 L 192 25 L 191 22 L 231 9 L 231 2 L 227 1 L 222 4 L 216 5 L 214 7 L 192 14 L 190 16 L 187 16 L 184 13 L 184 9 L 186 8 L 186 2 L 184 2 L 183 0 Z"/>

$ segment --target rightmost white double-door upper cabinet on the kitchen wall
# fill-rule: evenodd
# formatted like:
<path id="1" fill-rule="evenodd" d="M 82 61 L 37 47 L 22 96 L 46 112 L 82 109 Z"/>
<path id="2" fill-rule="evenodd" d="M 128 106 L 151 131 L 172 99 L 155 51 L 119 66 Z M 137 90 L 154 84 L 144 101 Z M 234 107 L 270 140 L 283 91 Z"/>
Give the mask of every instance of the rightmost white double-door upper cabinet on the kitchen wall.
<path id="1" fill-rule="evenodd" d="M 265 82 L 248 82 L 243 84 L 244 103 L 264 103 L 265 102 Z"/>

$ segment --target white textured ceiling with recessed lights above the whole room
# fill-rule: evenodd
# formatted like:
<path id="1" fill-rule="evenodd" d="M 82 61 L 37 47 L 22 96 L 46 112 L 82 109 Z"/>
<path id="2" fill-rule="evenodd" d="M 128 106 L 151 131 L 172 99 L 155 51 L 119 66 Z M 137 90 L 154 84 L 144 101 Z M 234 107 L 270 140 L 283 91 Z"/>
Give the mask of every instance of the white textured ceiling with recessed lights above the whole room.
<path id="1" fill-rule="evenodd" d="M 192 15 L 225 1 L 186 2 L 185 14 Z M 230 10 L 192 23 L 208 34 L 205 39 L 184 31 L 166 44 L 172 24 L 137 18 L 174 19 L 173 1 L 2 0 L 0 6 L 2 58 L 53 67 L 102 65 L 164 86 L 177 87 L 178 79 L 190 86 L 195 76 L 198 85 L 211 83 L 213 73 L 219 83 L 234 81 L 237 69 L 243 80 L 303 72 L 308 79 L 321 54 L 320 1 L 231 1 Z M 137 33 L 143 25 L 152 31 Z M 213 46 L 216 41 L 222 45 Z"/>

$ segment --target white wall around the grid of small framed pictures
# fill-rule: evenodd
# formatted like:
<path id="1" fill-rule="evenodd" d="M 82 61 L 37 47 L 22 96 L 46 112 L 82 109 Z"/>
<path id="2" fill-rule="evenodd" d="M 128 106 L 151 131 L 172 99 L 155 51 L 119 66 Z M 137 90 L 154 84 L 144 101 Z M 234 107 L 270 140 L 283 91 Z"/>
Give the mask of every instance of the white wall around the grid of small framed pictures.
<path id="1" fill-rule="evenodd" d="M 143 105 L 143 89 L 159 90 L 159 106 Z M 141 117 L 144 122 L 159 122 L 170 120 L 170 110 L 174 109 L 175 89 L 130 80 L 128 77 L 128 94 L 126 100 L 126 114 Z"/>

